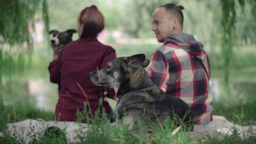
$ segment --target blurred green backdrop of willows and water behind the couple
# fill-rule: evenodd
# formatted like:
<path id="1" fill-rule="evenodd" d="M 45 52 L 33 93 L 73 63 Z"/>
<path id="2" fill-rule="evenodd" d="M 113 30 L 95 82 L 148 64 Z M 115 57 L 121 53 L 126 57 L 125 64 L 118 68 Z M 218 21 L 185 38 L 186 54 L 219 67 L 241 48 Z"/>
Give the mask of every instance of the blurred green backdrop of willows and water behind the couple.
<path id="1" fill-rule="evenodd" d="M 143 53 L 149 58 L 162 45 L 151 31 L 152 13 L 170 2 L 184 6 L 183 31 L 204 44 L 214 102 L 255 102 L 255 0 L 0 0 L 0 110 L 19 104 L 54 112 L 58 86 L 49 80 L 48 32 L 76 29 L 85 7 L 94 4 L 104 15 L 98 39 L 118 57 Z"/>

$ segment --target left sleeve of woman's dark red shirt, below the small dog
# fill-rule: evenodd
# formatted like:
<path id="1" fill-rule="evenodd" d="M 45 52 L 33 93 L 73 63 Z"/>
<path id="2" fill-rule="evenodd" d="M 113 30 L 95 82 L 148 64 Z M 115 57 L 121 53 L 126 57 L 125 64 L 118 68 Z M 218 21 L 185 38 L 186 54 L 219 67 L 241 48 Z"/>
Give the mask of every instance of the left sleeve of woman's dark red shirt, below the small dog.
<path id="1" fill-rule="evenodd" d="M 60 83 L 60 58 L 61 57 L 61 53 L 58 56 L 57 60 L 53 60 L 52 62 L 50 62 L 49 66 L 48 66 L 48 70 L 50 72 L 50 82 L 52 83 Z"/>

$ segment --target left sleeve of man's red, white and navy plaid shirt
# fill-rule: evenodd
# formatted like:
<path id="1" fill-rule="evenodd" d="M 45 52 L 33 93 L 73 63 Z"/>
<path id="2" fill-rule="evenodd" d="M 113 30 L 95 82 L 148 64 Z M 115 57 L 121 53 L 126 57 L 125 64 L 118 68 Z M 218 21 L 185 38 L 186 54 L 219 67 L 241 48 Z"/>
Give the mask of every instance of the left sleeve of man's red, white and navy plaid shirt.
<path id="1" fill-rule="evenodd" d="M 164 92 L 166 92 L 167 83 L 169 80 L 168 62 L 162 52 L 156 50 L 150 58 L 148 66 L 148 75 L 151 80 Z"/>

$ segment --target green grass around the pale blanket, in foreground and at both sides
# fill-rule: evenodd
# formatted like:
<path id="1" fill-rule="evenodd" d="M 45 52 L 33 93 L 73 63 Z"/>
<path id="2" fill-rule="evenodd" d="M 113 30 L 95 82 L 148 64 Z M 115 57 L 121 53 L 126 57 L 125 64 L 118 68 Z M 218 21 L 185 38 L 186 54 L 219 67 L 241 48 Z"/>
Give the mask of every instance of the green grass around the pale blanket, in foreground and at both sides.
<path id="1" fill-rule="evenodd" d="M 223 102 L 214 102 L 214 114 L 222 115 L 228 120 L 239 124 L 239 125 L 255 125 L 256 124 L 256 116 L 254 114 L 255 100 L 252 103 L 248 104 L 224 104 Z M 24 106 L 26 105 L 26 108 Z M 42 110 L 38 110 L 33 106 L 33 104 L 18 104 L 17 106 L 5 106 L 4 109 L 1 109 L 1 118 L 0 118 L 0 131 L 5 130 L 6 124 L 12 122 L 18 122 L 21 120 L 26 120 L 27 118 L 43 118 L 45 120 L 53 120 L 53 113 L 44 112 Z M 83 120 L 83 117 L 80 118 Z M 170 120 L 169 120 L 170 121 Z M 168 122 L 168 120 L 166 120 Z M 168 124 L 168 123 L 165 123 Z M 128 130 L 128 126 L 124 124 L 119 124 L 116 127 L 110 125 L 110 122 L 107 120 L 106 116 L 96 117 L 90 125 L 88 132 L 85 134 L 81 132 L 79 134 L 79 139 L 81 142 L 76 142 L 77 144 L 83 143 L 102 143 L 102 144 L 248 144 L 255 143 L 256 136 L 253 135 L 250 139 L 241 139 L 239 134 L 236 133 L 236 129 L 234 127 L 234 134 L 231 136 L 225 137 L 223 140 L 212 139 L 212 138 L 203 138 L 203 139 L 195 139 L 189 138 L 182 132 L 178 132 L 175 135 L 172 135 L 171 132 L 175 129 L 170 125 L 166 125 L 166 129 L 159 128 L 156 125 L 150 125 L 151 133 L 145 132 L 143 126 L 140 126 L 140 129 L 136 130 L 136 133 Z M 31 126 L 31 129 L 33 127 Z M 42 131 L 44 132 L 44 131 Z M 34 136 L 34 140 L 31 143 L 35 144 L 47 144 L 47 143 L 65 143 L 64 138 L 56 135 L 48 137 L 36 137 L 34 134 L 30 134 Z M 28 136 L 30 136 L 28 135 Z M 54 137 L 55 136 L 55 137 Z M 17 144 L 25 144 L 25 142 L 18 142 L 14 138 L 10 136 L 4 136 L 0 138 L 1 142 L 4 143 L 17 143 Z M 250 142 L 251 141 L 251 142 Z"/>

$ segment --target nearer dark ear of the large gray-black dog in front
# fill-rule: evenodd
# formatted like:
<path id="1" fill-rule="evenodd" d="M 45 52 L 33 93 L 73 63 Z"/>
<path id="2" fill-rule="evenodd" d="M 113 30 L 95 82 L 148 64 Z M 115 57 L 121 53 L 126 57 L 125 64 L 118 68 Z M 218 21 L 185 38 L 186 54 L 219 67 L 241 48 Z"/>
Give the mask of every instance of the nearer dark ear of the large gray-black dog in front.
<path id="1" fill-rule="evenodd" d="M 133 68 L 136 68 L 143 64 L 145 61 L 144 54 L 136 54 L 126 58 L 125 62 L 121 64 L 125 72 L 131 72 Z"/>

